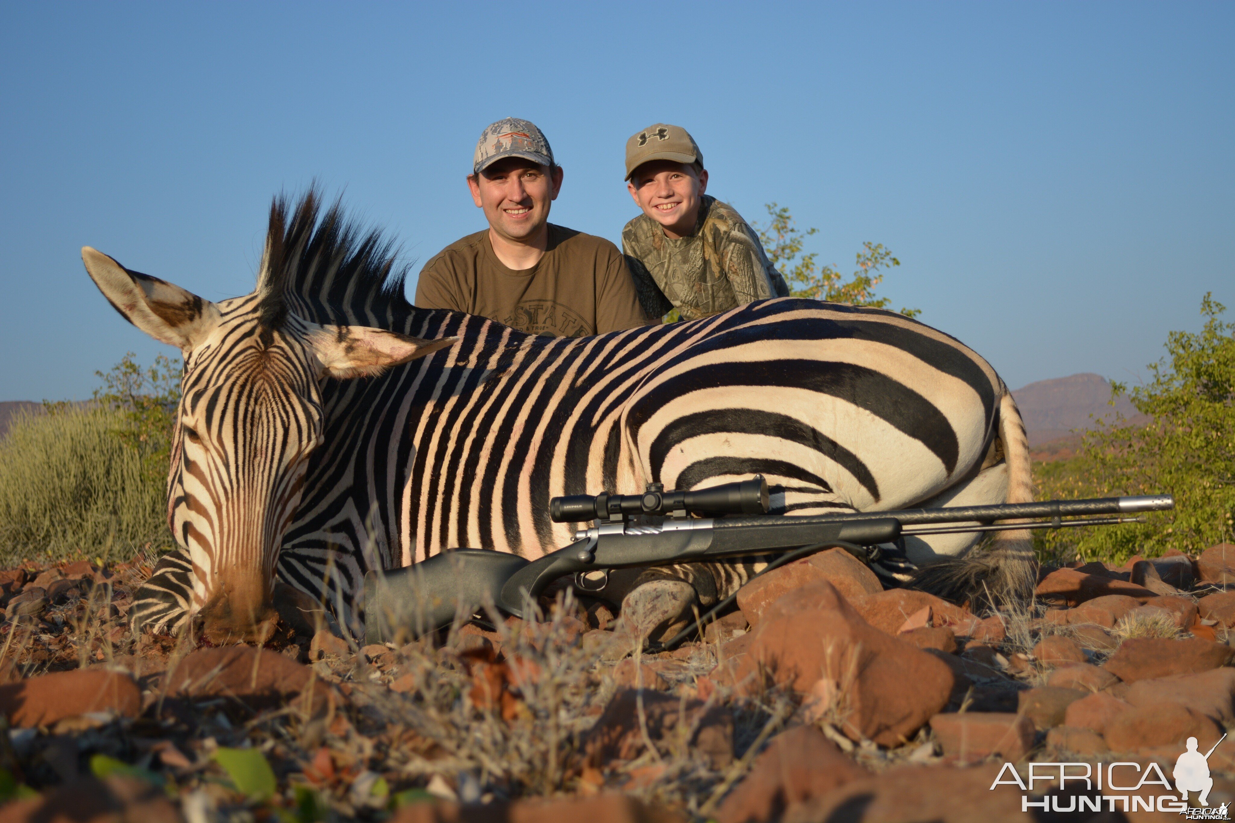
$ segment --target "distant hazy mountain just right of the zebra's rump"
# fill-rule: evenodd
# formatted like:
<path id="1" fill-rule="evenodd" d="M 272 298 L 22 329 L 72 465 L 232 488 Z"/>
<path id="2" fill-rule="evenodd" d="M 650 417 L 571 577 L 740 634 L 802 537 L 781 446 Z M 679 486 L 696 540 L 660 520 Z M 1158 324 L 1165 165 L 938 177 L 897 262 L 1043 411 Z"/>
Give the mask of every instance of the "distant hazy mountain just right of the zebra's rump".
<path id="1" fill-rule="evenodd" d="M 1081 439 L 1073 429 L 1088 431 L 1093 428 L 1093 418 L 1110 420 L 1116 412 L 1134 423 L 1149 421 L 1128 397 L 1119 397 L 1114 406 L 1108 405 L 1110 384 L 1097 374 L 1039 380 L 1018 389 L 1011 396 L 1025 421 L 1029 445 L 1035 450 L 1051 443 L 1073 445 Z"/>

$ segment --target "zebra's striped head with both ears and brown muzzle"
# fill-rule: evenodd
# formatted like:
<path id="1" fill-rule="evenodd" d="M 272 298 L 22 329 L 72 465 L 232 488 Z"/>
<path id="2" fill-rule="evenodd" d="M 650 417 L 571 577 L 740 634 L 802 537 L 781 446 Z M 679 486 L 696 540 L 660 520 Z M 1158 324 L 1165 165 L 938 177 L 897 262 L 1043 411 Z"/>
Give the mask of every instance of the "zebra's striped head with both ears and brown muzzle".
<path id="1" fill-rule="evenodd" d="M 214 643 L 262 639 L 273 628 L 280 540 L 322 442 L 322 381 L 373 376 L 454 342 L 299 316 L 283 284 L 290 267 L 315 254 L 306 247 L 311 204 L 309 212 L 308 230 L 298 230 L 298 211 L 285 231 L 284 204 L 275 202 L 257 289 L 220 302 L 82 249 L 112 307 L 183 354 L 168 524 L 193 561 L 189 612 Z M 347 270 L 337 247 L 317 252 L 310 264 Z"/>

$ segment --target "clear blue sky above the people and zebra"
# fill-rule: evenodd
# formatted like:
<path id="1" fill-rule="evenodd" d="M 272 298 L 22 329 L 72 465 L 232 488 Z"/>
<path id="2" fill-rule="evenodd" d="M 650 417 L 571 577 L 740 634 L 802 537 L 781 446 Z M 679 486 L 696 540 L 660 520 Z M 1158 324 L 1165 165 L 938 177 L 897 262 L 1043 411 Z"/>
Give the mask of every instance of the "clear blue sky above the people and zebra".
<path id="1" fill-rule="evenodd" d="M 0 400 L 78 399 L 168 350 L 78 249 L 209 299 L 319 180 L 420 264 L 484 226 L 504 116 L 566 169 L 552 220 L 620 239 L 626 137 L 685 126 L 710 194 L 816 226 L 847 270 L 1013 387 L 1136 381 L 1205 291 L 1235 316 L 1235 4 L 0 5 Z M 411 283 L 414 287 L 414 279 Z M 170 353 L 170 350 L 168 350 Z"/>

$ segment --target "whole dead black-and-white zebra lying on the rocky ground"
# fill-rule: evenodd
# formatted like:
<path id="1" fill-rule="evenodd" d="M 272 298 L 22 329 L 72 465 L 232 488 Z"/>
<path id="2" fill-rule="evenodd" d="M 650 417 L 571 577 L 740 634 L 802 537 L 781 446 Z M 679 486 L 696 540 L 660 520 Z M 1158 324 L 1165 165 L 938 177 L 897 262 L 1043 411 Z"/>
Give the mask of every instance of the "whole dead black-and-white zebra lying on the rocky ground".
<path id="1" fill-rule="evenodd" d="M 177 548 L 135 622 L 258 637 L 273 598 L 363 634 L 363 579 L 472 547 L 568 544 L 556 495 L 698 489 L 763 475 L 772 513 L 1032 500 L 1024 426 L 994 369 L 898 313 L 774 299 L 597 337 L 530 336 L 422 310 L 393 241 L 278 195 L 253 292 L 211 302 L 89 247 L 112 307 L 180 349 L 167 518 Z M 1028 533 L 910 538 L 915 584 L 1023 595 Z M 661 598 L 657 631 L 758 564 L 650 569 L 601 596 Z M 887 570 L 881 570 L 887 574 Z M 651 601 L 648 601 L 651 602 Z M 659 618 L 658 618 L 659 619 Z"/>

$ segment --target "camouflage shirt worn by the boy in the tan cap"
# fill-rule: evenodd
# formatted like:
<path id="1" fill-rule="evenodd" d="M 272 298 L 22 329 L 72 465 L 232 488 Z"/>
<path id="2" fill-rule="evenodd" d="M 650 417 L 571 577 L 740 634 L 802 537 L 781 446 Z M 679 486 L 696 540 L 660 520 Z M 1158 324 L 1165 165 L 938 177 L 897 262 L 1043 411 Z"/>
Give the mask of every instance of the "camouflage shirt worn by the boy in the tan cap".
<path id="1" fill-rule="evenodd" d="M 789 286 L 732 206 L 704 195 L 689 237 L 671 239 L 647 215 L 626 223 L 621 250 L 648 317 L 677 308 L 698 320 L 766 297 L 788 297 Z"/>

